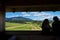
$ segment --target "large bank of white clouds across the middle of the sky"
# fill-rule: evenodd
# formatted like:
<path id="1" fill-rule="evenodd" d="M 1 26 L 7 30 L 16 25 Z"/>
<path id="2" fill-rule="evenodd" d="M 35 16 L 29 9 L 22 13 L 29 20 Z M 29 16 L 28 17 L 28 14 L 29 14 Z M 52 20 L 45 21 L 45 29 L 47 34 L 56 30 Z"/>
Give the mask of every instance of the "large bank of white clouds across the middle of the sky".
<path id="1" fill-rule="evenodd" d="M 44 19 L 52 19 L 54 15 L 46 12 L 22 12 L 22 16 L 32 16 L 36 17 L 33 20 L 44 20 Z"/>

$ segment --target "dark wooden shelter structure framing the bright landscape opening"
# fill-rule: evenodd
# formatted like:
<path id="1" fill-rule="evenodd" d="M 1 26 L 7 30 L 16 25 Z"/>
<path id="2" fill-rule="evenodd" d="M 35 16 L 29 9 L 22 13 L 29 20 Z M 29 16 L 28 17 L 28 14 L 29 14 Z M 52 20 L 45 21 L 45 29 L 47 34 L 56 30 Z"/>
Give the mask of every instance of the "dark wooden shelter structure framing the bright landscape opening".
<path id="1" fill-rule="evenodd" d="M 13 8 L 15 10 L 13 10 Z M 54 40 L 54 36 L 41 35 L 40 31 L 6 31 L 5 12 L 60 11 L 59 0 L 0 0 L 0 32 L 17 36 L 17 40 Z"/>

